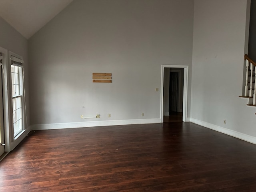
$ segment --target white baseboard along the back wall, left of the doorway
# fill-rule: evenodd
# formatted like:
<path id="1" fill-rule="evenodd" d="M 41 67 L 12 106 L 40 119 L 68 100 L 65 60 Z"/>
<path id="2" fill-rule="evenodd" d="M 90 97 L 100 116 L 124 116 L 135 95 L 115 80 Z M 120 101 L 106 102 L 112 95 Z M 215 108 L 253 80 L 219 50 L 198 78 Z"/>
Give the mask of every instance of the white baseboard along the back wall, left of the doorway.
<path id="1" fill-rule="evenodd" d="M 47 130 L 47 129 L 66 129 L 66 128 L 131 125 L 131 124 L 151 124 L 151 123 L 161 123 L 161 119 L 160 118 L 159 119 L 129 119 L 129 120 L 37 124 L 37 125 L 31 125 L 30 128 L 31 130 Z"/>

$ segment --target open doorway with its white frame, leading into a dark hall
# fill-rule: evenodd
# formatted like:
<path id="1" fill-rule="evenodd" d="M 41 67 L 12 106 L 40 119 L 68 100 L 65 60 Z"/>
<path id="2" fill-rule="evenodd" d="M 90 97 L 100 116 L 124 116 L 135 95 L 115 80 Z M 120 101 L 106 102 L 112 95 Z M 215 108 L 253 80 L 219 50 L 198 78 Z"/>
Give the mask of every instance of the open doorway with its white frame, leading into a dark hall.
<path id="1" fill-rule="evenodd" d="M 161 122 L 186 122 L 188 66 L 162 65 Z"/>

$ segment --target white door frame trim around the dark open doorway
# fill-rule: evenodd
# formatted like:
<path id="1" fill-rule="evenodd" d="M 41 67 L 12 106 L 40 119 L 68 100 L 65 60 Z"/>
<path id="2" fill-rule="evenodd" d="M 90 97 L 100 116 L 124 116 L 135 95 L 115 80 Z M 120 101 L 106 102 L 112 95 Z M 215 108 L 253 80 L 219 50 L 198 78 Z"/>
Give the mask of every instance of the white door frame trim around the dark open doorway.
<path id="1" fill-rule="evenodd" d="M 187 122 L 188 118 L 188 65 L 161 65 L 161 100 L 160 100 L 160 119 L 163 122 L 163 96 L 164 96 L 164 68 L 184 68 L 183 85 L 183 112 L 182 121 Z"/>

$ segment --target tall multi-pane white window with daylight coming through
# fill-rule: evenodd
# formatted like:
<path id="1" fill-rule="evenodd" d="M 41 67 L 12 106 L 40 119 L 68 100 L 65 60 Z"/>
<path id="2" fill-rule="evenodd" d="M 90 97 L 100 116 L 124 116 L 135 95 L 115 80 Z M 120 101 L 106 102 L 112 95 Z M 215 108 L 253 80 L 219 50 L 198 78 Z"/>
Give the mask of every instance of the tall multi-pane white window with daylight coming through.
<path id="1" fill-rule="evenodd" d="M 12 74 L 12 114 L 13 114 L 13 132 L 17 136 L 23 128 L 23 68 L 14 62 L 11 65 Z"/>

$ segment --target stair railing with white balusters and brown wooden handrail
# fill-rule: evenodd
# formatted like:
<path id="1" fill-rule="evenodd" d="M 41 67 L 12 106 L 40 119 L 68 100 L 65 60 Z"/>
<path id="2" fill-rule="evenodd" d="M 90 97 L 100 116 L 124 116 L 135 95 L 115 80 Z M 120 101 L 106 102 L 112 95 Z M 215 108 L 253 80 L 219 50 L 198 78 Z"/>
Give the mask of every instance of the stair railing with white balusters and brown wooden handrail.
<path id="1" fill-rule="evenodd" d="M 253 98 L 252 104 L 256 105 L 256 83 L 255 83 L 255 70 L 256 70 L 256 62 L 248 57 L 247 54 L 244 55 L 244 60 L 246 60 L 246 80 L 244 86 L 244 96 L 248 98 Z M 249 74 L 250 67 L 250 74 Z M 254 76 L 254 79 L 253 79 Z M 250 77 L 250 82 L 248 82 L 248 77 Z M 250 84 L 250 89 L 248 92 L 248 84 Z M 254 88 L 252 87 L 254 84 Z"/>

